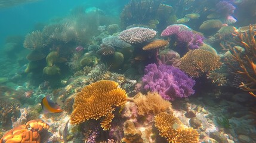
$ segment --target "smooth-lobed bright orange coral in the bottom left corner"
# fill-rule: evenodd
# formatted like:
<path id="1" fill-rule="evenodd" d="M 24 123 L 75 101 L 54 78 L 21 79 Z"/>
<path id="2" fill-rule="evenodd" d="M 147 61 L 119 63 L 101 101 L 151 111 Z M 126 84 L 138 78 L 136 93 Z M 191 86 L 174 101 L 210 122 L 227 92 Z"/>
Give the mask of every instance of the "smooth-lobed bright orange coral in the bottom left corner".
<path id="1" fill-rule="evenodd" d="M 42 129 L 48 130 L 49 125 L 42 120 L 31 120 L 26 125 L 20 125 L 9 130 L 1 138 L 0 143 L 39 143 L 41 140 L 39 132 Z"/>

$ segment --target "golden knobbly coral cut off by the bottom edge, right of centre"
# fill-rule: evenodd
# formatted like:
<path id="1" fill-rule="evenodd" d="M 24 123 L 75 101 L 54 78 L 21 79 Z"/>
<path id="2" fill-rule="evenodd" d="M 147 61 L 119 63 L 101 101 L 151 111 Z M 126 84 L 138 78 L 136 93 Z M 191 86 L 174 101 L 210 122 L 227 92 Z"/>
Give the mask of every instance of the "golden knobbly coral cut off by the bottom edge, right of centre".
<path id="1" fill-rule="evenodd" d="M 155 126 L 159 130 L 159 135 L 164 136 L 168 142 L 172 143 L 197 143 L 199 133 L 193 128 L 186 128 L 178 118 L 172 114 L 159 113 L 155 116 Z"/>

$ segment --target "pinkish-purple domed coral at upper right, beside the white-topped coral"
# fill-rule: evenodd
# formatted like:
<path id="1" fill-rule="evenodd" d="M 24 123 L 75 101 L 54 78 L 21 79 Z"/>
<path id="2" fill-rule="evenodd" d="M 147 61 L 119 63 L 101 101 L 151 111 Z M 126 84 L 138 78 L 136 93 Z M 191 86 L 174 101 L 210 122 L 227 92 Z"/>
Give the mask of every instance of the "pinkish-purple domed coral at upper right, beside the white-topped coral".
<path id="1" fill-rule="evenodd" d="M 161 36 L 173 36 L 176 39 L 177 48 L 183 49 L 180 53 L 181 55 L 185 54 L 184 47 L 188 49 L 198 49 L 199 46 L 203 44 L 203 36 L 198 33 L 193 33 L 192 29 L 187 27 L 184 24 L 173 24 L 168 27 L 161 33 Z"/>

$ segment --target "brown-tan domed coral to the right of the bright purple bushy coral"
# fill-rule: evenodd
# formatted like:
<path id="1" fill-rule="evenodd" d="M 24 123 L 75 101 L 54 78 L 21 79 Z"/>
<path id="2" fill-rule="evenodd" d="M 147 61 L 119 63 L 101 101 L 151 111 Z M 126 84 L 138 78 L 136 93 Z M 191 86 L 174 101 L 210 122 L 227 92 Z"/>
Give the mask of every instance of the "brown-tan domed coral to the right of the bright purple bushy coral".
<path id="1" fill-rule="evenodd" d="M 221 66 L 218 55 L 203 49 L 189 51 L 180 60 L 180 69 L 192 77 L 200 77 L 203 73 L 213 71 Z"/>

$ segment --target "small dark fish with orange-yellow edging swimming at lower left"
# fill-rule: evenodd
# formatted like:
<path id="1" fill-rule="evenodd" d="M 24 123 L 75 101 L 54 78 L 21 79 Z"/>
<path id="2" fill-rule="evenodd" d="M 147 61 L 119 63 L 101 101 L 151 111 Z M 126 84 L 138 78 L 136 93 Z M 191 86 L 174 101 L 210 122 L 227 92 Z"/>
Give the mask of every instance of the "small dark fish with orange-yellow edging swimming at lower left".
<path id="1" fill-rule="evenodd" d="M 42 99 L 41 105 L 42 105 L 42 109 L 46 113 L 60 113 L 63 111 L 56 102 L 54 102 L 53 100 L 50 100 L 49 96 L 46 96 Z"/>

